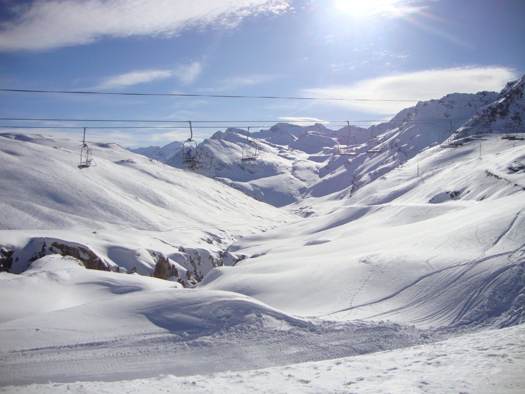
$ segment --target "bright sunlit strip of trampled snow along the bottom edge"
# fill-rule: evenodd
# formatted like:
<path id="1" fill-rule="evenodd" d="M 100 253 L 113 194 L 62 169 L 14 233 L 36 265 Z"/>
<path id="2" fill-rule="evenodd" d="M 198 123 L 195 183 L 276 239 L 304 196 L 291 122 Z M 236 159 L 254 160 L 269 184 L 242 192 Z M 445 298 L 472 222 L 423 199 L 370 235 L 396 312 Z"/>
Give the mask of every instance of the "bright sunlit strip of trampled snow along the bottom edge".
<path id="1" fill-rule="evenodd" d="M 267 369 L 203 372 L 185 377 L 159 374 L 150 379 L 134 376 L 111 382 L 45 382 L 0 387 L 0 392 L 521 394 L 525 388 L 524 336 L 525 327 L 521 325 L 428 345 Z M 161 364 L 164 360 L 159 361 Z"/>

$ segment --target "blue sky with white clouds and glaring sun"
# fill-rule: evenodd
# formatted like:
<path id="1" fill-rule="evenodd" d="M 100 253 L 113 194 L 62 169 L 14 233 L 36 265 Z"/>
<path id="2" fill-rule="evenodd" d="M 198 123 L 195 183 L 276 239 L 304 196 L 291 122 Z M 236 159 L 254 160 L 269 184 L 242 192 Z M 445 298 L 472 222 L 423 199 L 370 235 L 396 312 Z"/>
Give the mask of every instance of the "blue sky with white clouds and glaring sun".
<path id="1" fill-rule="evenodd" d="M 367 127 L 521 77 L 523 15 L 522 0 L 0 0 L 0 132 L 138 148 Z"/>

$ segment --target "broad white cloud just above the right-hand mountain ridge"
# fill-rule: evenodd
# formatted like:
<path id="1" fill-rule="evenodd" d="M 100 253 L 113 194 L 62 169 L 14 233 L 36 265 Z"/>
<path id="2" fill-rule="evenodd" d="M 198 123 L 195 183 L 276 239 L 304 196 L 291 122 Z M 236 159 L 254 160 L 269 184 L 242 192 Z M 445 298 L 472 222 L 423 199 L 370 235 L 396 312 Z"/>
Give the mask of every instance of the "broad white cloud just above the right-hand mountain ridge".
<path id="1" fill-rule="evenodd" d="M 415 100 L 415 101 L 325 101 L 349 110 L 375 115 L 395 115 L 416 101 L 439 99 L 450 93 L 500 91 L 516 73 L 506 67 L 455 67 L 407 72 L 392 76 L 364 79 L 353 85 L 337 85 L 303 90 L 304 97 L 344 98 L 350 100 Z"/>

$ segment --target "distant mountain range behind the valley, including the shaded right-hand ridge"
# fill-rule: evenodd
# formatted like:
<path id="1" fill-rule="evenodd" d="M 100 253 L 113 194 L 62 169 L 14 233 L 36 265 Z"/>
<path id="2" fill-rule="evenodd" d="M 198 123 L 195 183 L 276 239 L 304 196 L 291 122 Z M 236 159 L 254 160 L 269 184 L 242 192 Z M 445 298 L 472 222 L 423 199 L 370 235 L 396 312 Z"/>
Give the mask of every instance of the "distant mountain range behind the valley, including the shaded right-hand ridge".
<path id="1" fill-rule="evenodd" d="M 422 149 L 456 136 L 465 122 L 496 100 L 517 97 L 516 88 L 511 90 L 514 93 L 507 90 L 501 94 L 456 93 L 419 102 L 369 129 L 345 126 L 331 130 L 320 124 L 301 127 L 279 123 L 248 135 L 247 130 L 230 128 L 199 144 L 196 172 L 279 207 L 341 191 L 349 183 L 355 191 Z M 259 160 L 241 160 L 255 144 Z M 336 154 L 338 144 L 356 154 Z M 182 167 L 173 157 L 164 162 Z"/>

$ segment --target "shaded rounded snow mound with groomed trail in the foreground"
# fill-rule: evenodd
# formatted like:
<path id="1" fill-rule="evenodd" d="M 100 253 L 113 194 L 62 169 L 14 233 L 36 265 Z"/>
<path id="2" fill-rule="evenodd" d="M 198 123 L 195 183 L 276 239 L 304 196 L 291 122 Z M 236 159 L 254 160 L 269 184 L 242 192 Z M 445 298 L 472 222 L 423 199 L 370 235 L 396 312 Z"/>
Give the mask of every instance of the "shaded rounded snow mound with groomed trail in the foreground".
<path id="1" fill-rule="evenodd" d="M 247 370 L 426 343 L 395 323 L 286 315 L 246 296 L 135 292 L 0 325 L 2 385 Z"/>

